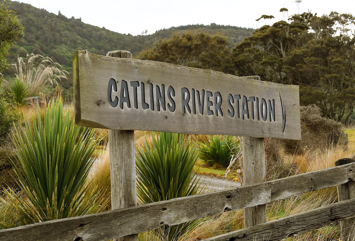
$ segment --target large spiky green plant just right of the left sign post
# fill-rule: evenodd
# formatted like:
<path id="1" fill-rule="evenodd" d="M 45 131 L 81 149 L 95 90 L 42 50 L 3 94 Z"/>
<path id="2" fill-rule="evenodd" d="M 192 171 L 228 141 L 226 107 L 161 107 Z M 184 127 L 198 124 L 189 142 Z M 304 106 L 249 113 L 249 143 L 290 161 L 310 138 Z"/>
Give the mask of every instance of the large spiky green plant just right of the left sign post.
<path id="1" fill-rule="evenodd" d="M 144 141 L 136 154 L 138 202 L 151 203 L 201 192 L 193 166 L 198 154 L 190 138 L 175 133 L 158 133 L 153 143 Z M 177 240 L 198 222 L 188 222 L 151 232 L 162 240 Z"/>

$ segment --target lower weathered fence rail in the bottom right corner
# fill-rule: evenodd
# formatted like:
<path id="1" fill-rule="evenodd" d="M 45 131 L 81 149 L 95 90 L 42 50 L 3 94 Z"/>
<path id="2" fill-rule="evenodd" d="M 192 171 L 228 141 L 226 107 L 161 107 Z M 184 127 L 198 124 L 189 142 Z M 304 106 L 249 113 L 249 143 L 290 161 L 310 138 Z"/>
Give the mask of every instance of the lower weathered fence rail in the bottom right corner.
<path id="1" fill-rule="evenodd" d="M 304 234 L 333 224 L 339 220 L 355 217 L 355 199 L 333 203 L 300 214 L 273 220 L 256 226 L 204 239 L 203 241 L 278 241 Z"/>

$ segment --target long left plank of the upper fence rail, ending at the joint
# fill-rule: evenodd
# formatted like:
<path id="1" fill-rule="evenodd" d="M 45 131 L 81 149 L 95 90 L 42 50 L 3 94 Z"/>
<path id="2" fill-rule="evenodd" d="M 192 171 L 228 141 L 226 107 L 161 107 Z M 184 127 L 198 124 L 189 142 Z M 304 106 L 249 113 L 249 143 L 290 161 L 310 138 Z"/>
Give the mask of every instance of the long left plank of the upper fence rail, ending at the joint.
<path id="1" fill-rule="evenodd" d="M 257 195 L 255 195 L 255 193 Z M 0 241 L 108 240 L 270 201 L 267 185 L 241 187 L 0 230 Z M 252 199 L 250 198 L 252 197 Z M 79 238 L 77 240 L 80 240 Z"/>

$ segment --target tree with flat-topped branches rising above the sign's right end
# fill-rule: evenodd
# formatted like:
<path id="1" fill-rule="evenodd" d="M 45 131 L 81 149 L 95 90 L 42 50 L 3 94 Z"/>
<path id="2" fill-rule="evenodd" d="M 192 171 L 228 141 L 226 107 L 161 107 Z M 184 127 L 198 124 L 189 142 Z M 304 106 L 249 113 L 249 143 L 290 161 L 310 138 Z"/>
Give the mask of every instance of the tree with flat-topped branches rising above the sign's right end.
<path id="1" fill-rule="evenodd" d="M 259 75 L 264 81 L 285 83 L 283 79 L 285 58 L 290 51 L 309 39 L 307 23 L 311 16 L 310 13 L 294 15 L 289 22 L 278 21 L 272 26 L 265 25 L 256 29 L 250 37 L 245 38 L 234 48 L 237 75 Z"/>

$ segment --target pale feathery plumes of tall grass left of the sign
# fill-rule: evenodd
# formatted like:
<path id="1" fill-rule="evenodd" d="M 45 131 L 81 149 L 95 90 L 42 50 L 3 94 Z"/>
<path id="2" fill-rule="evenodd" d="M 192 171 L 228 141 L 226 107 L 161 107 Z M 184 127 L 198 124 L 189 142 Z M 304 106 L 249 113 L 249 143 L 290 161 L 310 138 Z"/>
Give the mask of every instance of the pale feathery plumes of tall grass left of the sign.
<path id="1" fill-rule="evenodd" d="M 38 65 L 37 62 L 39 62 Z M 57 84 L 58 79 L 66 79 L 65 75 L 69 74 L 51 58 L 33 53 L 31 56 L 26 56 L 26 61 L 22 57 L 18 57 L 17 63 L 12 64 L 12 68 L 16 78 L 27 86 L 29 96 L 39 94 L 49 85 Z"/>

